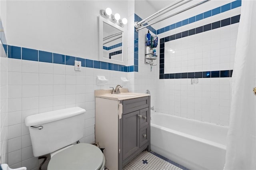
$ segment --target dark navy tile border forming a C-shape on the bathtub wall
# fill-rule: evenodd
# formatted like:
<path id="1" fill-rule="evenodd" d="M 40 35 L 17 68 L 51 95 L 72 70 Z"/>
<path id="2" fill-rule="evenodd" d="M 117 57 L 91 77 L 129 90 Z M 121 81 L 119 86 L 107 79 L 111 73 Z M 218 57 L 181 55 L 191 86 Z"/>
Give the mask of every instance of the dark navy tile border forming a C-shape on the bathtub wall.
<path id="1" fill-rule="evenodd" d="M 210 31 L 230 24 L 238 23 L 240 15 L 226 18 L 217 22 L 206 24 L 191 30 L 180 32 L 160 39 L 160 56 L 159 56 L 159 79 L 186 79 L 186 78 L 214 78 L 214 77 L 232 77 L 233 70 L 219 70 L 219 71 L 201 71 L 191 73 L 164 73 L 164 43 L 184 38 L 201 32 Z"/>

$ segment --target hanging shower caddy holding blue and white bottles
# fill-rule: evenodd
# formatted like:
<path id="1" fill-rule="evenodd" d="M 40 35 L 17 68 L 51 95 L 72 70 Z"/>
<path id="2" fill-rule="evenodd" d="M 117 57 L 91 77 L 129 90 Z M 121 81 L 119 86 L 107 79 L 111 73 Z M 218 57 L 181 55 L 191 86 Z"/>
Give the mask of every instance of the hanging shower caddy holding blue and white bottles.
<path id="1" fill-rule="evenodd" d="M 148 31 L 149 34 L 149 31 Z M 152 71 L 152 66 L 154 65 L 154 60 L 157 59 L 156 55 L 156 48 L 158 44 L 158 37 L 157 36 L 151 36 L 150 38 L 147 36 L 148 34 L 145 34 L 145 64 L 149 64 L 151 66 L 151 71 Z"/>

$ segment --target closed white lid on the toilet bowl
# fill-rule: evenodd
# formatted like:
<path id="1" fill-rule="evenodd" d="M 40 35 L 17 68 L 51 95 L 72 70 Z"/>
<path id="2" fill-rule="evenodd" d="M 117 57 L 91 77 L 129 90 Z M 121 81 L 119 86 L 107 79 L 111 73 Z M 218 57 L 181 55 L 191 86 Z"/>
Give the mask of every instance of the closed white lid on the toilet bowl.
<path id="1" fill-rule="evenodd" d="M 79 143 L 55 154 L 48 170 L 98 170 L 103 163 L 101 150 L 92 144 Z"/>

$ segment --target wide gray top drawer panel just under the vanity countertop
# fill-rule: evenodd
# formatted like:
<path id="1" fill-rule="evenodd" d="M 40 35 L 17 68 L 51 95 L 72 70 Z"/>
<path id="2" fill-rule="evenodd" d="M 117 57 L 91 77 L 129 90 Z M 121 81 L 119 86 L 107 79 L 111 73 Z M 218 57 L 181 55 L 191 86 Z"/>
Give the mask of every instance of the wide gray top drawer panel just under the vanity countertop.
<path id="1" fill-rule="evenodd" d="M 149 97 L 139 97 L 136 99 L 128 99 L 123 101 L 123 114 L 131 113 L 144 109 L 149 105 Z"/>

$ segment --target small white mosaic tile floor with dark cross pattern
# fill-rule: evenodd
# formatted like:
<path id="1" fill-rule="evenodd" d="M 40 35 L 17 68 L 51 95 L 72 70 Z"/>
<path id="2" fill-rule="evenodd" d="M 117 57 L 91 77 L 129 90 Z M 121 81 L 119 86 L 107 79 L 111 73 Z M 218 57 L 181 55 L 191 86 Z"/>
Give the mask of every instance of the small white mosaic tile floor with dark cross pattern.
<path id="1" fill-rule="evenodd" d="M 126 166 L 123 170 L 188 170 L 167 158 L 161 157 L 155 152 L 144 150 Z M 175 164 L 175 165 L 174 165 Z"/>

